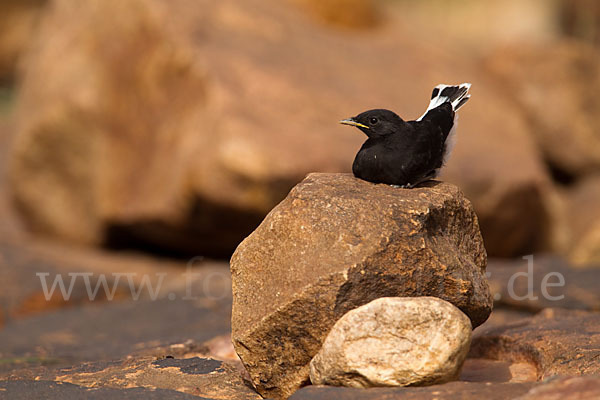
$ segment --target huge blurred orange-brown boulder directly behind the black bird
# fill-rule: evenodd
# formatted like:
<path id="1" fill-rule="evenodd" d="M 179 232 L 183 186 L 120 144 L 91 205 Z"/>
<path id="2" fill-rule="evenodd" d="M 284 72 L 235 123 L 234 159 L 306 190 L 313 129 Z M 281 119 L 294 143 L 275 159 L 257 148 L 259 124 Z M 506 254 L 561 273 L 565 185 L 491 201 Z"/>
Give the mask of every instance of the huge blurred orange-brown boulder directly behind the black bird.
<path id="1" fill-rule="evenodd" d="M 343 35 L 275 0 L 53 0 L 20 93 L 16 202 L 48 235 L 230 254 L 307 172 L 350 170 L 364 137 L 336 121 L 415 118 L 435 84 L 472 81 L 448 176 L 493 254 L 546 246 L 524 118 L 469 61 L 403 29 Z"/>

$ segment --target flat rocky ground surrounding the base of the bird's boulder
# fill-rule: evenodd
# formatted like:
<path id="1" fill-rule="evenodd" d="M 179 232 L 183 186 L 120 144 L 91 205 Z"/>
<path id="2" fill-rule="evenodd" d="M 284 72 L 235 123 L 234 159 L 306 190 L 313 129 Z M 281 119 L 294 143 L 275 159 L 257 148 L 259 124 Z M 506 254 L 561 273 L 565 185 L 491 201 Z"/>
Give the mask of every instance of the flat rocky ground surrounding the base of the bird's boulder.
<path id="1" fill-rule="evenodd" d="M 0 398 L 261 398 L 231 345 L 232 297 L 226 263 L 194 265 L 198 275 L 190 278 L 196 297 L 191 300 L 186 297 L 189 280 L 182 276 L 183 262 L 89 249 L 65 251 L 62 245 L 8 236 L 1 244 Z M 536 256 L 530 298 L 512 298 L 528 295 L 530 282 L 524 276 L 515 280 L 512 295 L 507 289 L 511 277 L 528 272 L 527 268 L 527 260 L 490 260 L 487 275 L 495 310 L 475 329 L 457 382 L 421 388 L 308 386 L 291 398 L 600 395 L 600 382 L 594 377 L 600 372 L 600 314 L 596 312 L 600 295 L 594 290 L 600 271 L 574 269 L 560 258 Z M 144 274 L 165 274 L 165 278 L 156 300 L 148 294 L 132 300 L 121 282 L 112 301 L 100 296 L 90 302 L 80 280 L 69 301 L 60 301 L 60 296 L 45 301 L 35 274 L 73 271 L 110 276 L 127 271 L 137 273 L 136 283 Z M 543 292 L 542 281 L 551 272 L 562 274 L 566 285 Z M 265 287 L 259 293 L 268 291 Z M 293 343 L 295 339 L 281 340 Z"/>

